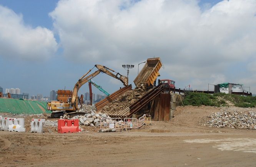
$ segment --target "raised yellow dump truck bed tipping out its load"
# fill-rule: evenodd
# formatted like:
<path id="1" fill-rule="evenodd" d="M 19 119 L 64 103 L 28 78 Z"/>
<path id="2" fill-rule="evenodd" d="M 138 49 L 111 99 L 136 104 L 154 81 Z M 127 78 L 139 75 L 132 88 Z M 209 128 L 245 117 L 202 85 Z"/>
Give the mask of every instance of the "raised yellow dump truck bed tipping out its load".
<path id="1" fill-rule="evenodd" d="M 135 86 L 137 88 L 139 88 L 141 84 L 146 84 L 147 87 L 153 86 L 156 78 L 159 75 L 158 71 L 160 70 L 161 66 L 162 63 L 160 58 L 148 58 L 139 75 L 133 81 Z"/>

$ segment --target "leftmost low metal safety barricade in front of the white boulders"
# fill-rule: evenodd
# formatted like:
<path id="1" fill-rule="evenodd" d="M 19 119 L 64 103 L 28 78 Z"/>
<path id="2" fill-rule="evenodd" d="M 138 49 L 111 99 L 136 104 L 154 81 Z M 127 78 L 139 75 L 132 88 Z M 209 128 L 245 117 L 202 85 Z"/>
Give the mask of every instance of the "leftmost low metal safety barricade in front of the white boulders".
<path id="1" fill-rule="evenodd" d="M 121 118 L 101 118 L 100 119 L 100 129 L 101 130 L 111 130 L 111 129 L 121 129 Z"/>

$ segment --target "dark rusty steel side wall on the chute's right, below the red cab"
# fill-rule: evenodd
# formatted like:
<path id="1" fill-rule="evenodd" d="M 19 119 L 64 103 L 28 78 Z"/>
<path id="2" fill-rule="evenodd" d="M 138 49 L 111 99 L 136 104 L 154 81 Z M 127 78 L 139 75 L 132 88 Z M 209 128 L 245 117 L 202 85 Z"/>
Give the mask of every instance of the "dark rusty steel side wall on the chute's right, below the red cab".
<path id="1" fill-rule="evenodd" d="M 156 86 L 156 88 L 152 89 L 150 92 L 145 94 L 143 97 L 141 97 L 139 100 L 137 100 L 135 103 L 130 105 L 130 113 L 128 114 L 128 117 L 131 117 L 134 113 L 136 113 L 138 110 L 140 110 L 143 106 L 148 104 L 151 100 L 153 100 L 158 94 L 163 92 L 163 84 L 159 84 Z"/>

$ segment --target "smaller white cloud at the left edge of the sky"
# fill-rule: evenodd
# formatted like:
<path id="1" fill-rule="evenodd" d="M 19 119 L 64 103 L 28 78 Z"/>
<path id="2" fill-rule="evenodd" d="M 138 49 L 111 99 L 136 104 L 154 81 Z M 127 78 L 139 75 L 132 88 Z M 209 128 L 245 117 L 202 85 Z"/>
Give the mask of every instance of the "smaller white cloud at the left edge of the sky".
<path id="1" fill-rule="evenodd" d="M 45 60 L 57 51 L 53 32 L 31 28 L 23 16 L 0 5 L 0 56 L 25 60 Z"/>

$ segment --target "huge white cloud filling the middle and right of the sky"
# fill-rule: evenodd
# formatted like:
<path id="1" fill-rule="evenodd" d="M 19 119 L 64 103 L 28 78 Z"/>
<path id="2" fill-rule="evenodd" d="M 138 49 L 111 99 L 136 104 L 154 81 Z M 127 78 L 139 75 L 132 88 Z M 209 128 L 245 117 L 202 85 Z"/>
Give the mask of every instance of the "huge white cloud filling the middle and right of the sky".
<path id="1" fill-rule="evenodd" d="M 60 0 L 50 16 L 65 57 L 75 62 L 113 68 L 155 56 L 166 68 L 161 76 L 207 87 L 230 82 L 236 74 L 228 70 L 256 54 L 255 6 L 255 0 L 203 10 L 197 0 Z"/>

